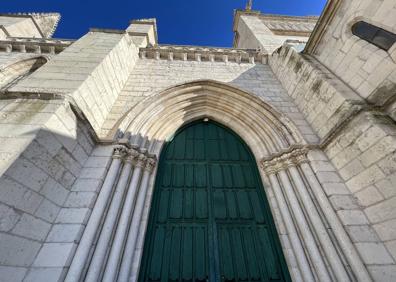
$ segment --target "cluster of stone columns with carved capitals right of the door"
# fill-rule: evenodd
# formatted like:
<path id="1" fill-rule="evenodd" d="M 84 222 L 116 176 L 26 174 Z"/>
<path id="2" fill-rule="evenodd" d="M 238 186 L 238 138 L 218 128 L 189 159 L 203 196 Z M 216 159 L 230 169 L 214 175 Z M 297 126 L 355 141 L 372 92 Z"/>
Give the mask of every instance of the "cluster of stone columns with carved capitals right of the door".
<path id="1" fill-rule="evenodd" d="M 290 205 L 290 214 L 295 222 L 282 216 L 286 228 L 288 231 L 293 228 L 299 230 L 301 238 L 297 238 L 304 243 L 306 254 L 320 281 L 350 281 L 355 278 L 358 281 L 371 281 L 367 269 L 309 165 L 309 150 L 309 147 L 296 148 L 262 161 L 262 168 L 271 180 L 276 198 L 284 196 L 285 203 Z M 283 211 L 285 205 L 279 203 L 282 215 L 286 213 Z M 295 227 L 289 226 L 294 224 Z M 289 233 L 299 267 L 302 267 L 300 262 L 304 262 L 299 259 L 300 247 L 293 243 L 296 236 L 293 232 Z M 346 261 L 352 272 L 345 264 Z"/>

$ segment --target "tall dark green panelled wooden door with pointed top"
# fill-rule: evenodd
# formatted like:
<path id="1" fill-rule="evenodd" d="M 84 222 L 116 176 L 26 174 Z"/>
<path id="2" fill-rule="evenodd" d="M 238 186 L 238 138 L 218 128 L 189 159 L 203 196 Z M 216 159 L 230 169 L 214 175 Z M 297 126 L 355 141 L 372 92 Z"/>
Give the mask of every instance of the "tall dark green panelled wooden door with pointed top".
<path id="1" fill-rule="evenodd" d="M 140 281 L 290 281 L 257 166 L 213 122 L 161 155 Z"/>

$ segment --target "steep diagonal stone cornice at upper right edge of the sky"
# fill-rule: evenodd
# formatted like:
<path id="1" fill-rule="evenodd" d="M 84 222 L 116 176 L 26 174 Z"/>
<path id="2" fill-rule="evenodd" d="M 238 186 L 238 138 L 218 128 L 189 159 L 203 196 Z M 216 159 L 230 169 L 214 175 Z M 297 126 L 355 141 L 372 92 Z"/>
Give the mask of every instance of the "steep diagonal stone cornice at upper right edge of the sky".
<path id="1" fill-rule="evenodd" d="M 342 0 L 327 1 L 326 6 L 323 9 L 323 12 L 319 17 L 319 20 L 314 30 L 312 31 L 311 36 L 309 37 L 308 43 L 305 46 L 303 53 L 313 54 L 315 52 L 317 45 L 319 44 L 324 33 L 326 32 L 327 26 L 333 20 L 341 3 Z"/>

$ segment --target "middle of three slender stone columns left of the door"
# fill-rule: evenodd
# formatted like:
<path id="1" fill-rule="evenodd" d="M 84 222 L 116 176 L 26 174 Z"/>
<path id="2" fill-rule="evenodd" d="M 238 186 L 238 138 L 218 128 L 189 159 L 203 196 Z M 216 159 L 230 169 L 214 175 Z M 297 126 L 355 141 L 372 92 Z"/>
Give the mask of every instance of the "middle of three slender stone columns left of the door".
<path id="1" fill-rule="evenodd" d="M 137 153 L 135 151 L 135 153 Z M 119 264 L 121 261 L 123 247 L 125 246 L 125 239 L 128 234 L 128 228 L 132 219 L 135 208 L 135 200 L 139 188 L 139 182 L 142 175 L 142 170 L 145 165 L 146 157 L 143 154 L 137 153 L 137 160 L 135 160 L 135 168 L 133 170 L 132 180 L 128 188 L 128 193 L 125 198 L 125 205 L 122 209 L 120 220 L 116 234 L 113 239 L 110 255 L 107 261 L 103 281 L 114 281 L 117 277 Z"/>

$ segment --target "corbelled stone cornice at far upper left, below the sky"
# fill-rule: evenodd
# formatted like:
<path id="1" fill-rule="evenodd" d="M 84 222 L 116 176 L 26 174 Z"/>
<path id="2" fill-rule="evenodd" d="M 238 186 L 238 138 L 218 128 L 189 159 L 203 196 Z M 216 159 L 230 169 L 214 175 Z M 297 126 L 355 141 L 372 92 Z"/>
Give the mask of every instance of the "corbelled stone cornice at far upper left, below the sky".
<path id="1" fill-rule="evenodd" d="M 9 37 L 0 40 L 0 52 L 58 54 L 73 42 L 65 39 Z"/>

